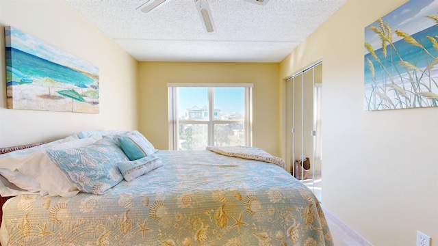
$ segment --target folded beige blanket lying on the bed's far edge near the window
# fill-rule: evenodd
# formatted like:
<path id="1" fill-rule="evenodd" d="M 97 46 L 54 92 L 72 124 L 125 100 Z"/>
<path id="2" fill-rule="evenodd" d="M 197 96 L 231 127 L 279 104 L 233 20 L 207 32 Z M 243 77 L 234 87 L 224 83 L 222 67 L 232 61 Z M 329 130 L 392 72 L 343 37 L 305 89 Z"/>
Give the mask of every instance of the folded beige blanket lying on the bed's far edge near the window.
<path id="1" fill-rule="evenodd" d="M 248 146 L 226 146 L 226 147 L 216 147 L 207 146 L 207 150 L 211 150 L 218 154 L 223 154 L 226 156 L 240 157 L 242 159 L 249 159 L 255 161 L 264 161 L 267 163 L 272 163 L 278 165 L 279 167 L 286 169 L 285 160 L 280 157 L 272 156 L 268 152 L 261 150 L 259 148 L 248 147 Z"/>

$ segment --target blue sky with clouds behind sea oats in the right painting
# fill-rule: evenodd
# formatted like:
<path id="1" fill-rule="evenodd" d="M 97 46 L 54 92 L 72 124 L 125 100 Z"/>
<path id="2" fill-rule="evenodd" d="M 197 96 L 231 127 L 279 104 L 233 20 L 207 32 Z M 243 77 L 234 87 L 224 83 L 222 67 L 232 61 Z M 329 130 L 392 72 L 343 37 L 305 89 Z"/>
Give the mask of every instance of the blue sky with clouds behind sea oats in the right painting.
<path id="1" fill-rule="evenodd" d="M 436 25 L 434 20 L 427 18 L 426 16 L 437 15 L 438 13 L 438 1 L 434 0 L 410 0 L 404 5 L 401 5 L 396 10 L 390 12 L 386 16 L 383 16 L 383 21 L 388 23 L 394 33 L 394 30 L 400 29 L 410 35 L 422 31 L 428 27 Z M 370 43 L 374 50 L 381 48 L 381 39 L 370 31 L 370 26 L 378 27 L 377 21 L 365 27 L 365 42 Z M 393 40 L 396 42 L 400 40 L 398 36 L 393 35 Z M 368 53 L 368 51 L 365 51 Z"/>

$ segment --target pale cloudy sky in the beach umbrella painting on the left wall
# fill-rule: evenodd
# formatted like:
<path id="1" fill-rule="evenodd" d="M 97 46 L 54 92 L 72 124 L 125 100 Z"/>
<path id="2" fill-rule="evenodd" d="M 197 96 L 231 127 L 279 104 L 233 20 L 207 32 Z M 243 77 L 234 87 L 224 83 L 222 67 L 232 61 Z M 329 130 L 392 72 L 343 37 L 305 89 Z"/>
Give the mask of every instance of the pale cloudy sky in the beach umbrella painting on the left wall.
<path id="1" fill-rule="evenodd" d="M 71 55 L 62 49 L 58 49 L 57 47 L 14 27 L 10 27 L 10 33 L 7 29 L 5 30 L 5 36 L 11 36 L 12 46 L 15 49 L 19 49 L 31 55 L 36 55 L 37 57 L 47 59 L 48 61 L 52 61 L 68 68 L 75 68 L 83 72 L 90 72 L 91 74 L 99 75 L 99 68 L 84 59 Z M 6 43 L 6 46 L 10 45 L 11 44 Z"/>

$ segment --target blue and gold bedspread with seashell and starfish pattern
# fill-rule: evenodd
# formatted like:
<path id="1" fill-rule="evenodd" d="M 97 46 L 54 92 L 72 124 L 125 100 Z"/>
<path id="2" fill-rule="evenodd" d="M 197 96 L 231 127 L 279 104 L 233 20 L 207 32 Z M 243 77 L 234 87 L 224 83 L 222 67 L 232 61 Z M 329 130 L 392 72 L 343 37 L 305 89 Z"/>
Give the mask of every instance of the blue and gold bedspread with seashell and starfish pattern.
<path id="1" fill-rule="evenodd" d="M 2 245 L 333 245 L 320 204 L 281 167 L 209 150 L 159 151 L 164 166 L 104 195 L 21 195 Z"/>

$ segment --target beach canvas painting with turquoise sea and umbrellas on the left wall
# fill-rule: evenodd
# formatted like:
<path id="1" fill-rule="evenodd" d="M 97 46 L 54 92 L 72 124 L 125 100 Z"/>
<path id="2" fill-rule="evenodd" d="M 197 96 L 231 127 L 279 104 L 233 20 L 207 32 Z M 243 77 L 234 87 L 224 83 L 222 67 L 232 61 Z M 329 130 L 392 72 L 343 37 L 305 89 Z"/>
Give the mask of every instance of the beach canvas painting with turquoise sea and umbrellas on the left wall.
<path id="1" fill-rule="evenodd" d="M 8 109 L 99 113 L 99 68 L 5 27 Z"/>

